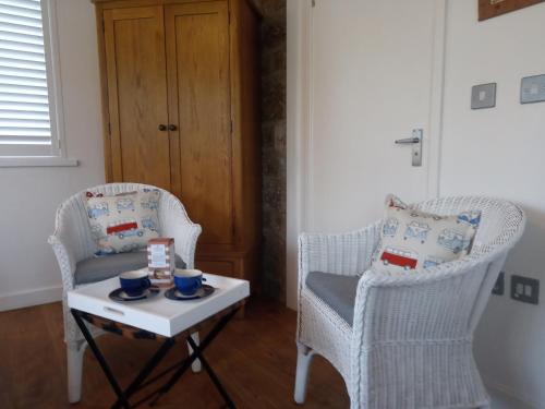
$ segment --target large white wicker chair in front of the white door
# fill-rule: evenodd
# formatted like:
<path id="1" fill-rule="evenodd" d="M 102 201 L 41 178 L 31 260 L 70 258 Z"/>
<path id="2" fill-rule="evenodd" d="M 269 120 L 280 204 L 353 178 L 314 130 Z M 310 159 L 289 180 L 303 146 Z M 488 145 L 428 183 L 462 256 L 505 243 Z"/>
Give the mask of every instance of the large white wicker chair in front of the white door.
<path id="1" fill-rule="evenodd" d="M 379 221 L 344 234 L 300 237 L 298 404 L 305 399 L 312 357 L 319 353 L 344 378 L 352 409 L 489 406 L 473 359 L 473 333 L 522 234 L 524 213 L 509 202 L 475 196 L 411 207 L 439 215 L 482 210 L 471 254 L 425 273 L 390 276 L 368 270 Z M 306 287 L 310 272 L 364 273 L 352 326 Z"/>

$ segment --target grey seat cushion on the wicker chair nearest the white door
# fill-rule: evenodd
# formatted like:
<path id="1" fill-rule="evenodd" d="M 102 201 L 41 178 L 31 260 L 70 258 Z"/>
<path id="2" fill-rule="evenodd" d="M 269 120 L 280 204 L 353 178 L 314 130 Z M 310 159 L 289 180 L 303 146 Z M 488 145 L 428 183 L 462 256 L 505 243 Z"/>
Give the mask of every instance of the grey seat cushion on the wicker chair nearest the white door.
<path id="1" fill-rule="evenodd" d="M 306 287 L 352 326 L 359 280 L 360 276 L 311 272 L 306 276 Z"/>

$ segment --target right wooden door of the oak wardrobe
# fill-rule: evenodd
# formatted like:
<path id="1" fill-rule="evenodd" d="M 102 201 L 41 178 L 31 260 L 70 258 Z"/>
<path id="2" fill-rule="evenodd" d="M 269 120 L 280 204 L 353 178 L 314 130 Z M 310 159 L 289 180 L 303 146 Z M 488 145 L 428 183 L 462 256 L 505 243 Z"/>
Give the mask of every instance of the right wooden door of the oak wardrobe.
<path id="1" fill-rule="evenodd" d="M 228 19 L 227 1 L 165 7 L 173 191 L 203 249 L 233 242 Z"/>

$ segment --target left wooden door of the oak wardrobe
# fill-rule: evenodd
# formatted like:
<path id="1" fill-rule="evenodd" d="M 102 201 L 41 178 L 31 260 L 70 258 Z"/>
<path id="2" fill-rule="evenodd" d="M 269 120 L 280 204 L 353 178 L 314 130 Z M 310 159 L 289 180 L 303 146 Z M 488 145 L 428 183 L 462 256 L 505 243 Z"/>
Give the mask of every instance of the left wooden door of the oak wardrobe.
<path id="1" fill-rule="evenodd" d="M 168 190 L 162 7 L 105 10 L 104 28 L 112 179 Z"/>

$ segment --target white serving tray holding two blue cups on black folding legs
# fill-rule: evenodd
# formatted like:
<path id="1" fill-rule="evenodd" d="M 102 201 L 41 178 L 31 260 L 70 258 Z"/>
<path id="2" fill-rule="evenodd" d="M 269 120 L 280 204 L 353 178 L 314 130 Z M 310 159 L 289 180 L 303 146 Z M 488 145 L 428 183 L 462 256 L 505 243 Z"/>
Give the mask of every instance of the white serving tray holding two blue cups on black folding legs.
<path id="1" fill-rule="evenodd" d="M 108 294 L 120 287 L 119 278 L 81 286 L 68 292 L 68 305 L 152 333 L 172 337 L 250 296 L 250 282 L 213 274 L 204 274 L 214 293 L 199 300 L 174 301 L 165 289 L 153 299 L 116 302 Z"/>

